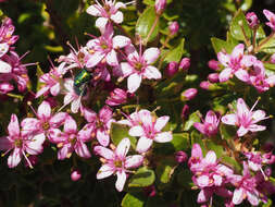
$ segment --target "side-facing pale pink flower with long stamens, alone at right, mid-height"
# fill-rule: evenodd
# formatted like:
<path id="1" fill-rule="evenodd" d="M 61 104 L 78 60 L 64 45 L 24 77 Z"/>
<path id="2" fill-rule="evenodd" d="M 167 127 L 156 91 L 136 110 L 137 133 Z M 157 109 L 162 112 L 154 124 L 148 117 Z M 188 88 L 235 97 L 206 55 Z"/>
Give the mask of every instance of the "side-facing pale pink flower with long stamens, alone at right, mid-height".
<path id="1" fill-rule="evenodd" d="M 252 111 L 258 104 L 259 99 L 255 101 L 253 107 L 249 110 L 248 106 L 242 98 L 237 100 L 237 111 L 236 113 L 230 113 L 222 117 L 222 122 L 229 125 L 238 126 L 238 136 L 243 136 L 249 131 L 258 132 L 264 131 L 265 126 L 255 124 L 259 121 L 268 119 L 265 117 L 265 112 L 262 110 Z"/>

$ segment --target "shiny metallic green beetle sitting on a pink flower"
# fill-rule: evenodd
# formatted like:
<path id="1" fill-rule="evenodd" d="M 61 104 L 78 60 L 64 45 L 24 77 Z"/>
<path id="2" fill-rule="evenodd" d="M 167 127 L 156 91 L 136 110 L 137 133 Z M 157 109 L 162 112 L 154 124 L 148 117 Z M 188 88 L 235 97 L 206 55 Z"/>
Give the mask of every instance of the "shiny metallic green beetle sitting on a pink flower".
<path id="1" fill-rule="evenodd" d="M 87 93 L 87 84 L 92 78 L 92 73 L 86 69 L 82 69 L 80 72 L 74 78 L 74 92 L 79 96 L 85 96 Z"/>

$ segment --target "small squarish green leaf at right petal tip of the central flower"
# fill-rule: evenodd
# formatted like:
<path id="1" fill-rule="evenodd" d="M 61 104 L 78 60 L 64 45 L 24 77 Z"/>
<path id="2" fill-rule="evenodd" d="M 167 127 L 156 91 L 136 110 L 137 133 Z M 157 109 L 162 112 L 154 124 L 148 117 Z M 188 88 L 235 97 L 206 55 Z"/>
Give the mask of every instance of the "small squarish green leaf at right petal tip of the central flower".
<path id="1" fill-rule="evenodd" d="M 186 150 L 190 148 L 190 141 L 188 133 L 173 133 L 171 144 L 174 146 L 175 151 Z"/>

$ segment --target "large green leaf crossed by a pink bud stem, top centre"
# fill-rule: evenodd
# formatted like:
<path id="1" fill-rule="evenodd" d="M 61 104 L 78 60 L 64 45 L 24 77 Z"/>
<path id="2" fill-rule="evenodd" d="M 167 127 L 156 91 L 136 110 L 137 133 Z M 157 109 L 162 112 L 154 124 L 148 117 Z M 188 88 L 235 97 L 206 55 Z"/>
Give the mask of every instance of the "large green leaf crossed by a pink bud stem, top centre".
<path id="1" fill-rule="evenodd" d="M 154 7 L 147 8 L 137 21 L 136 33 L 140 35 L 142 39 L 146 39 L 155 20 L 157 20 L 157 15 L 155 15 Z M 148 38 L 148 41 L 154 40 L 154 38 L 158 36 L 159 29 L 160 29 L 159 22 L 160 21 L 158 21 L 152 34 Z"/>

